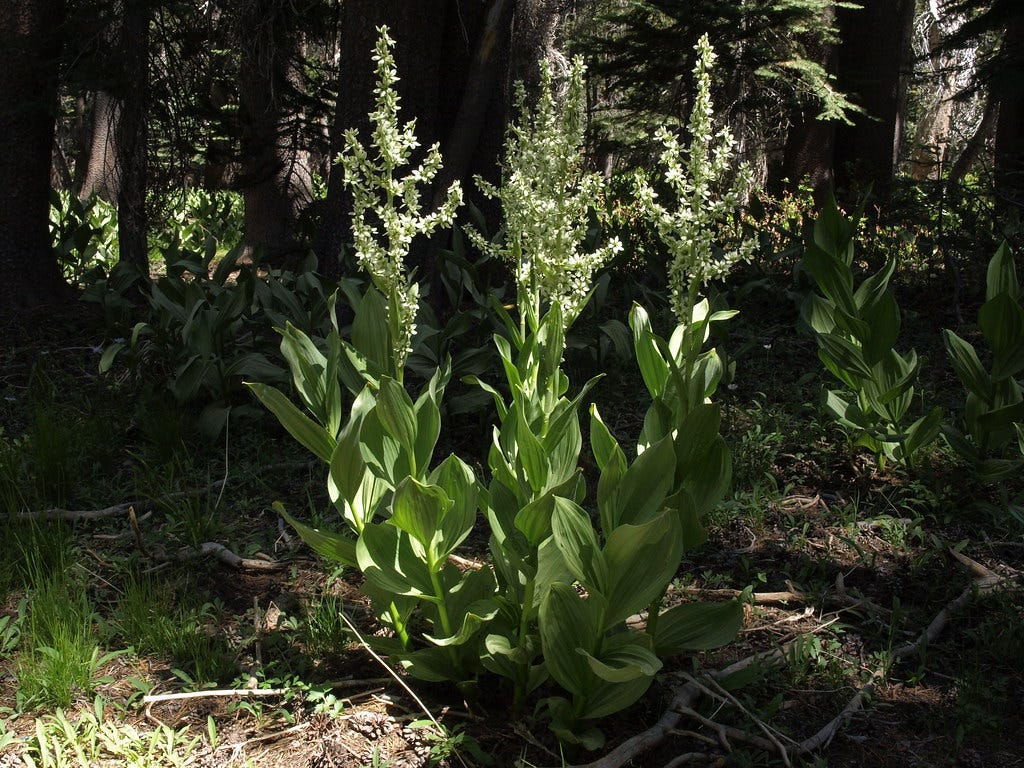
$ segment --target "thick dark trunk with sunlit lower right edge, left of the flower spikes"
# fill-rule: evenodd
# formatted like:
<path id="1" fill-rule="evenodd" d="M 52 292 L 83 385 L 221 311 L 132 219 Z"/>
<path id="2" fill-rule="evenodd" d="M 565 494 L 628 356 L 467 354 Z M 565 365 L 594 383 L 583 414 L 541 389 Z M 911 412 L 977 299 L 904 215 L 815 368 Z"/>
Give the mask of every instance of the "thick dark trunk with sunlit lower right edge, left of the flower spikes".
<path id="1" fill-rule="evenodd" d="M 299 147 L 297 116 L 286 97 L 297 86 L 297 11 L 282 0 L 243 0 L 239 96 L 247 251 L 274 263 L 300 252 L 296 222 L 311 198 L 311 176 Z M 291 120 L 289 118 L 291 117 Z"/>

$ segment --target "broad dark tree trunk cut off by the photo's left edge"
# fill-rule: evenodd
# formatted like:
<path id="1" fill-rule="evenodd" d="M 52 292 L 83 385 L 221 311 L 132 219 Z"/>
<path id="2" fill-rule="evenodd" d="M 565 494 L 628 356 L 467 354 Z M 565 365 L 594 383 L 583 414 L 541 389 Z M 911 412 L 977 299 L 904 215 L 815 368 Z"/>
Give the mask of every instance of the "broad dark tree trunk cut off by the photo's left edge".
<path id="1" fill-rule="evenodd" d="M 50 244 L 61 0 L 0 0 L 0 316 L 65 299 Z"/>

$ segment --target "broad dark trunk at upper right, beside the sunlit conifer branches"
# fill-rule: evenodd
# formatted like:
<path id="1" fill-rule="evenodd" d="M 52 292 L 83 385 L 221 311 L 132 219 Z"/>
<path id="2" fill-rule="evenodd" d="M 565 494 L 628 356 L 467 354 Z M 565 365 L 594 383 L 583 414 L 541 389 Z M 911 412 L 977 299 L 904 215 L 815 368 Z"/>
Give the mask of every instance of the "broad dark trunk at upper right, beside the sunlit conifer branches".
<path id="1" fill-rule="evenodd" d="M 837 131 L 836 183 L 847 193 L 870 184 L 880 199 L 889 195 L 903 138 L 913 5 L 865 0 L 863 9 L 839 10 L 839 88 L 867 112 Z"/>

